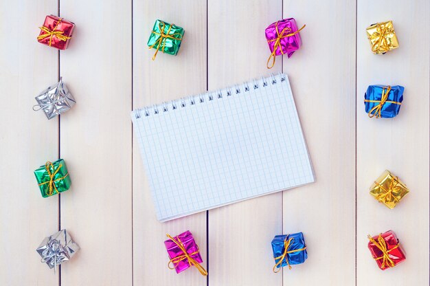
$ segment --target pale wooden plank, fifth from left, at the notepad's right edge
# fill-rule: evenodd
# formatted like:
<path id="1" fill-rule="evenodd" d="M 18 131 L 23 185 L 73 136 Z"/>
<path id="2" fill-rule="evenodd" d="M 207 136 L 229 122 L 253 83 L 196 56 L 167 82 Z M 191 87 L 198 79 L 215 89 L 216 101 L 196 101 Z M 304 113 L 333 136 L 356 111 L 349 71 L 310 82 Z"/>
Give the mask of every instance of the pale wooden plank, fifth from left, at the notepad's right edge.
<path id="1" fill-rule="evenodd" d="M 306 24 L 284 71 L 316 182 L 284 192 L 284 233 L 304 232 L 308 248 L 284 285 L 354 285 L 355 2 L 284 0 L 288 17 Z"/>

